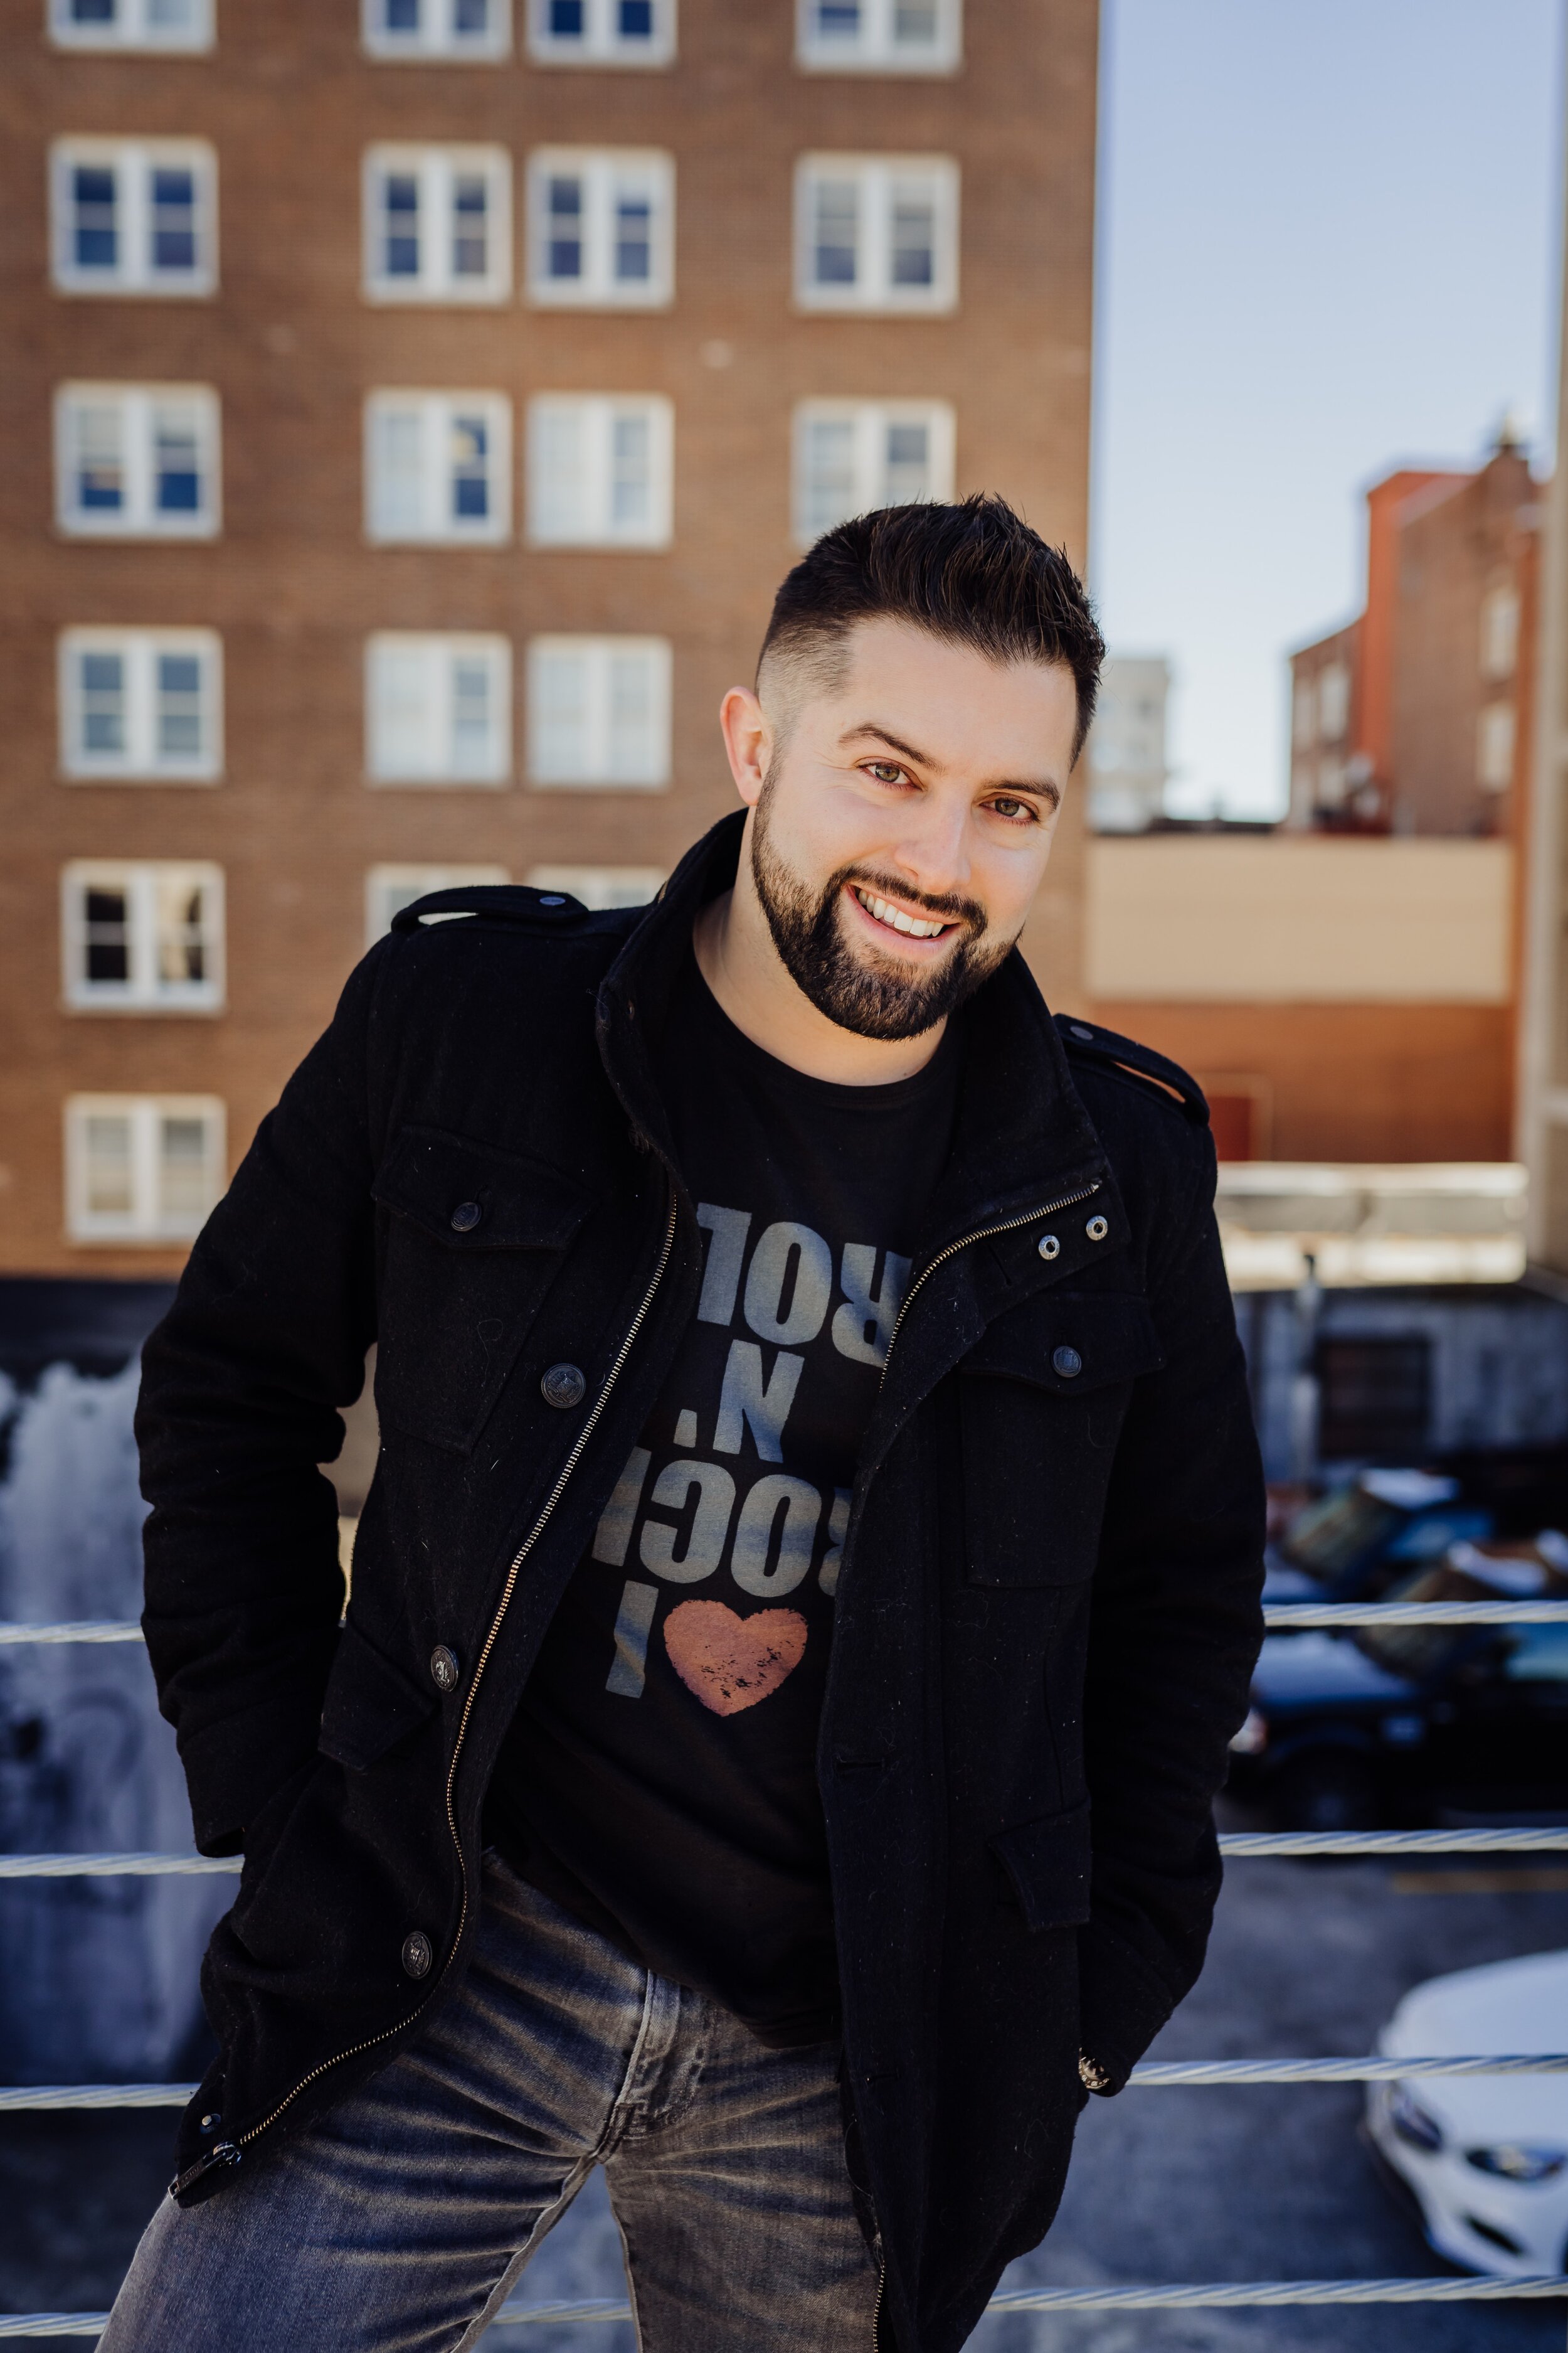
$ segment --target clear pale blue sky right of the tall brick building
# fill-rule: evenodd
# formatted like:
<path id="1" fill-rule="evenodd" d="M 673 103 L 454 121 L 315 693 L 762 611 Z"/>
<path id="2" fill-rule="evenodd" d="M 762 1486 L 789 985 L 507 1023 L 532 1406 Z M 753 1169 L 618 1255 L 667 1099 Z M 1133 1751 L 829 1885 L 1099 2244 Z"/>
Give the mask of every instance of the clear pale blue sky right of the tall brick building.
<path id="1" fill-rule="evenodd" d="M 1559 0 L 1105 0 L 1091 579 L 1173 807 L 1284 807 L 1366 482 L 1549 449 L 1559 87 Z"/>

